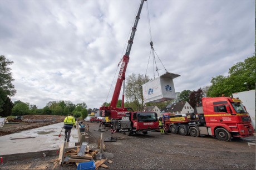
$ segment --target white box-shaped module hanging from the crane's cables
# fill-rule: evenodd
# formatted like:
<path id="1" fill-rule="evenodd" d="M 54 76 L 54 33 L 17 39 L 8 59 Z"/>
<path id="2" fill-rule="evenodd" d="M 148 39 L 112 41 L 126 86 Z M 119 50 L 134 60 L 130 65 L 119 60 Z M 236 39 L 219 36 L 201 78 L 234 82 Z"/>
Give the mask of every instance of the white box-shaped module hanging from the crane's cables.
<path id="1" fill-rule="evenodd" d="M 144 103 L 176 99 L 173 79 L 179 76 L 179 74 L 166 72 L 142 85 Z"/>

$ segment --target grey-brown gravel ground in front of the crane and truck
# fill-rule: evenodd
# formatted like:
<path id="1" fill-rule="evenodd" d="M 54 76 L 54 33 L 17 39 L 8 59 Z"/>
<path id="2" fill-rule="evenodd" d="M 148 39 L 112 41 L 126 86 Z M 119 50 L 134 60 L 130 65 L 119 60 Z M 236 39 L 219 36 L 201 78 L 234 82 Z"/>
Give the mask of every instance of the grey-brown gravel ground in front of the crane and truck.
<path id="1" fill-rule="evenodd" d="M 89 145 L 97 148 L 101 133 L 107 138 L 110 130 L 94 131 L 99 129 L 99 123 L 87 123 L 90 125 Z M 135 136 L 114 133 L 113 136 L 119 140 L 105 142 L 102 154 L 102 158 L 114 162 L 105 163 L 110 169 L 255 169 L 255 146 L 248 145 L 248 142 L 255 143 L 255 136 L 229 142 L 211 136 L 196 138 L 171 133 L 161 135 L 160 132 Z M 9 145 L 11 147 L 12 143 Z M 0 169 L 76 169 L 75 164 L 54 166 L 50 160 L 56 158 L 58 154 L 6 161 Z"/>

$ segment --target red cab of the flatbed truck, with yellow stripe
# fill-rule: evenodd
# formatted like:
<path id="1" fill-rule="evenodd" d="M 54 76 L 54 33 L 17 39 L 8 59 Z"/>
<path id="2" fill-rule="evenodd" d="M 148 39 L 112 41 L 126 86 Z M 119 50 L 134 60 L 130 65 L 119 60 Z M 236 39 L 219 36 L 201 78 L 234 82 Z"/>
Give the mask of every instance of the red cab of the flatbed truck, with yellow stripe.
<path id="1" fill-rule="evenodd" d="M 250 117 L 242 101 L 230 97 L 205 97 L 203 112 L 209 133 L 217 138 L 253 136 L 254 130 Z"/>

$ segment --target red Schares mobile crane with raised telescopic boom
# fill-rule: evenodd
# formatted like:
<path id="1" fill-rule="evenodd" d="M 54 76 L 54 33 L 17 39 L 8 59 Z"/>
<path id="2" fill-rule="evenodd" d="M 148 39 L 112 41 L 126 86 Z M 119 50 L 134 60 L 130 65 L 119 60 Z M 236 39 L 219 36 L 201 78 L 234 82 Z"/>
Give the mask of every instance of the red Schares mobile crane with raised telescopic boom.
<path id="1" fill-rule="evenodd" d="M 112 126 L 114 131 L 127 132 L 128 136 L 132 133 L 142 132 L 146 134 L 149 131 L 159 129 L 159 121 L 157 121 L 157 115 L 155 112 L 134 112 L 131 107 L 124 107 L 125 82 L 123 87 L 121 108 L 116 107 L 122 83 L 125 81 L 125 72 L 127 64 L 129 63 L 129 55 L 144 1 L 145 0 L 141 0 L 139 11 L 137 12 L 134 26 L 132 27 L 130 39 L 126 48 L 126 53 L 120 61 L 121 68 L 118 74 L 110 106 L 100 107 L 100 116 L 104 117 L 104 120 L 102 121 L 103 126 Z"/>

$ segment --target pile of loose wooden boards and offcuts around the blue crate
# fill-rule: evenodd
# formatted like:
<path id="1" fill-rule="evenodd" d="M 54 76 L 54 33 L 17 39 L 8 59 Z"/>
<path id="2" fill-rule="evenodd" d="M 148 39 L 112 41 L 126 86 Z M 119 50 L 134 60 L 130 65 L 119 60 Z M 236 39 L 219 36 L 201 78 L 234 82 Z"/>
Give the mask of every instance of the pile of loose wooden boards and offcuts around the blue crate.
<path id="1" fill-rule="evenodd" d="M 83 163 L 83 162 L 90 162 L 93 161 L 95 162 L 95 167 L 98 169 L 99 167 L 102 168 L 109 168 L 104 164 L 107 159 L 100 159 L 100 160 L 94 160 L 95 155 L 99 152 L 97 150 L 91 150 L 90 147 L 88 146 L 88 143 L 83 142 L 80 147 L 77 147 L 75 149 L 71 149 L 69 151 L 63 150 L 64 144 L 61 146 L 60 154 L 58 159 L 53 159 L 51 162 L 60 162 L 60 164 L 63 166 L 71 163 L 75 163 L 76 166 L 78 166 L 78 163 Z M 62 163 L 61 163 L 62 162 Z M 112 161 L 111 161 L 112 162 Z"/>

